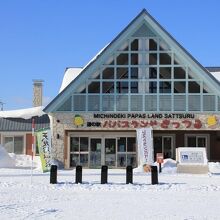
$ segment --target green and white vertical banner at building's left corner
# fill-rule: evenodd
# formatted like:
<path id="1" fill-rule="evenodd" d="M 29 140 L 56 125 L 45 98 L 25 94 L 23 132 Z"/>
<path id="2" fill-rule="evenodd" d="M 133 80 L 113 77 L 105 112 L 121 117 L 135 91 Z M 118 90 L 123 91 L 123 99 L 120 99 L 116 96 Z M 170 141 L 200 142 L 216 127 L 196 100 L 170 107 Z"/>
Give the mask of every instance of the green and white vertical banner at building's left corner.
<path id="1" fill-rule="evenodd" d="M 51 131 L 44 129 L 37 132 L 37 146 L 43 172 L 50 171 L 51 166 Z"/>

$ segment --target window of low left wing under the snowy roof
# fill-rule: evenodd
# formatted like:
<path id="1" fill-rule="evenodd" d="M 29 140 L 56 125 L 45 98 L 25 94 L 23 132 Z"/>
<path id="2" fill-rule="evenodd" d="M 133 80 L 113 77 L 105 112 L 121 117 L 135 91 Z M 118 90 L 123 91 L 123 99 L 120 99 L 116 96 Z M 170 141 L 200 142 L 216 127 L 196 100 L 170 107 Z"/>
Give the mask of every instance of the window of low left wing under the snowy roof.
<path id="1" fill-rule="evenodd" d="M 8 153 L 24 154 L 24 137 L 23 136 L 10 136 L 4 137 L 4 146 Z"/>

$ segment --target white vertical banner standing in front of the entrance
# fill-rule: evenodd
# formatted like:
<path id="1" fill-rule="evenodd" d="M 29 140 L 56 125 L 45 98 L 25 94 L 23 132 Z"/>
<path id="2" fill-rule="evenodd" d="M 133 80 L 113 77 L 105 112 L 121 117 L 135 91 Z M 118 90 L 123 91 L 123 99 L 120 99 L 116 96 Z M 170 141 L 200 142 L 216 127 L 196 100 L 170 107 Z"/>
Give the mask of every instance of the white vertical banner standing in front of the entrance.
<path id="1" fill-rule="evenodd" d="M 153 159 L 153 136 L 152 128 L 137 129 L 138 166 L 152 165 Z"/>

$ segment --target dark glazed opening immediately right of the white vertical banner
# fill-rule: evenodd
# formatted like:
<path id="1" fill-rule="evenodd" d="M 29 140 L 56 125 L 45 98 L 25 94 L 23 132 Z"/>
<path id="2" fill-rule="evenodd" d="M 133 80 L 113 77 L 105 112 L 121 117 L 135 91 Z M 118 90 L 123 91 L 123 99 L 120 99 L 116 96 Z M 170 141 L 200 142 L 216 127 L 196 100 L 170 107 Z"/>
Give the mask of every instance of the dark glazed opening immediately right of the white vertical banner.
<path id="1" fill-rule="evenodd" d="M 154 160 L 157 153 L 163 153 L 164 158 L 173 158 L 173 137 L 155 136 L 154 137 Z"/>

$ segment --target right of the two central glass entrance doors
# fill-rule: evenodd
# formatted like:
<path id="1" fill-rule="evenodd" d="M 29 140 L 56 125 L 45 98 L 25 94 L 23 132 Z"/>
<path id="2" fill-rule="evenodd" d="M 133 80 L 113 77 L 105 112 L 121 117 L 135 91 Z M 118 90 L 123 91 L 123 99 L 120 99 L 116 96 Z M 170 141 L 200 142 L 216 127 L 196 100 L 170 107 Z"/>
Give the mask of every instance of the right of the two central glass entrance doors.
<path id="1" fill-rule="evenodd" d="M 116 139 L 105 138 L 105 165 L 116 166 Z"/>

